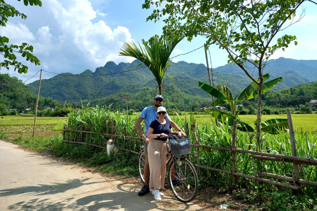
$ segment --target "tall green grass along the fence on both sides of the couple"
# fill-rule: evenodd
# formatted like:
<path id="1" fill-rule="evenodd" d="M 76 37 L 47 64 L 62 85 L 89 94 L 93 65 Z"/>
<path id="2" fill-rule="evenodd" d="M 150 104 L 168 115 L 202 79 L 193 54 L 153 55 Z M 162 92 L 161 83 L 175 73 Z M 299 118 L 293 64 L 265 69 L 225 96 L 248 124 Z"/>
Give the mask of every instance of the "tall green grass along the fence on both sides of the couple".
<path id="1" fill-rule="evenodd" d="M 111 106 L 89 107 L 88 105 L 82 106 L 80 110 L 74 110 L 69 107 L 70 112 L 68 119 L 65 120 L 65 128 L 74 130 L 92 131 L 95 134 L 86 135 L 86 137 L 80 137 L 80 133 L 68 133 L 70 140 L 82 140 L 87 143 L 96 145 L 103 145 L 110 138 L 101 135 L 100 133 L 112 133 L 113 122 L 116 123 L 114 130 L 115 134 L 127 136 L 139 136 L 134 124 L 137 119 L 137 115 L 131 115 L 129 112 L 120 112 L 118 108 L 115 112 L 111 111 Z M 189 136 L 191 137 L 191 143 L 194 143 L 194 133 L 197 136 L 199 144 L 208 146 L 221 146 L 231 147 L 231 130 L 232 128 L 228 124 L 216 123 L 211 118 L 205 118 L 204 121 L 199 120 L 199 117 L 193 113 L 184 114 L 182 116 L 175 115 L 172 117 L 173 121 L 182 129 L 186 121 L 190 122 Z M 125 133 L 126 126 L 126 133 Z M 195 127 L 194 127 L 195 126 Z M 142 127 L 144 125 L 142 124 Z M 307 138 L 306 138 L 307 137 Z M 317 135 L 312 132 L 305 132 L 304 130 L 295 130 L 295 139 L 297 147 L 297 156 L 317 158 Z M 286 155 L 291 154 L 290 137 L 289 133 L 281 132 L 277 135 L 262 133 L 262 149 L 269 153 L 280 153 Z M 124 141 L 122 139 L 115 139 L 115 145 L 134 150 L 133 141 Z M 136 143 L 139 146 L 139 143 Z M 252 133 L 246 133 L 237 131 L 236 148 L 244 150 L 257 150 L 256 137 Z M 136 150 L 138 147 L 136 148 Z M 199 149 L 199 164 L 204 166 L 210 166 L 213 168 L 224 169 L 232 171 L 232 159 L 230 151 L 220 151 L 211 149 Z M 135 150 L 134 150 L 135 151 Z M 192 147 L 191 161 L 197 162 L 197 148 Z M 316 181 L 316 166 L 301 165 L 301 178 L 310 181 Z M 276 161 L 259 161 L 253 160 L 250 154 L 236 153 L 236 171 L 243 174 L 255 176 L 256 171 L 263 171 L 272 174 L 279 174 L 283 176 L 293 177 L 293 164 L 288 162 L 276 162 Z M 275 180 L 270 178 L 271 180 Z M 224 183 L 231 183 L 231 175 L 220 173 L 217 171 L 208 171 L 200 169 L 200 184 L 201 185 L 223 185 Z M 238 184 L 240 187 L 252 189 L 257 185 L 256 180 L 247 178 L 238 178 Z M 263 188 L 271 190 L 273 185 L 265 183 Z M 314 193 L 317 191 L 316 187 L 303 185 L 304 190 L 308 193 Z"/>

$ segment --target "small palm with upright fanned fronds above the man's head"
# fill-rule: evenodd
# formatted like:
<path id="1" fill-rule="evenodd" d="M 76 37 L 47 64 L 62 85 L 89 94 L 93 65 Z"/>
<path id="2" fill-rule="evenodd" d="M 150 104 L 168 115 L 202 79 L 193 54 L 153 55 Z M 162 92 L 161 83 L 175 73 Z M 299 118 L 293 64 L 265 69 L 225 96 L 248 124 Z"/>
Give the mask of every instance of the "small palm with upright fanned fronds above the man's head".
<path id="1" fill-rule="evenodd" d="M 154 40 L 151 43 L 142 39 L 143 49 L 133 42 L 130 44 L 125 43 L 123 49 L 120 49 L 119 54 L 122 56 L 132 56 L 141 61 L 140 65 L 146 65 L 148 71 L 151 71 L 158 82 L 159 94 L 162 95 L 162 86 L 164 87 L 163 77 L 166 76 L 173 80 L 173 77 L 165 75 L 167 68 L 171 66 L 169 57 L 175 46 L 183 39 L 183 37 L 173 37 L 169 40 Z M 137 67 L 138 67 L 137 66 Z"/>

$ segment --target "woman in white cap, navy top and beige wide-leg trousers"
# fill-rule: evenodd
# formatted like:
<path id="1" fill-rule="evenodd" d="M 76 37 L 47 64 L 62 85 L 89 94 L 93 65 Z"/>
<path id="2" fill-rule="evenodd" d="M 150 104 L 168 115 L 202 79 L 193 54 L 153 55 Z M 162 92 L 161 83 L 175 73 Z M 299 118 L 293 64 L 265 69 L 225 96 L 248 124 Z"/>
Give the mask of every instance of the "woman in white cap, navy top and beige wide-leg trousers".
<path id="1" fill-rule="evenodd" d="M 166 109 L 161 106 L 157 109 L 158 119 L 152 121 L 147 137 L 151 139 L 148 143 L 148 160 L 150 165 L 150 189 L 156 201 L 161 201 L 163 193 L 159 189 L 164 188 L 166 174 L 166 150 L 167 136 L 172 132 L 171 122 L 165 119 Z"/>

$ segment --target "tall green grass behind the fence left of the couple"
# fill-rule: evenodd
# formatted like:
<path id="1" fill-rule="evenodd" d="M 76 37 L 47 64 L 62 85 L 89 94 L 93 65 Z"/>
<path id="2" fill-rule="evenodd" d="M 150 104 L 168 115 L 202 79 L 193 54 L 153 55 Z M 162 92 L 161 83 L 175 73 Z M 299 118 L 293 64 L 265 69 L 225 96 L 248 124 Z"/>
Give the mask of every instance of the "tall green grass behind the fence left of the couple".
<path id="1" fill-rule="evenodd" d="M 100 106 L 96 105 L 94 107 L 89 107 L 89 104 L 82 106 L 79 110 L 74 110 L 69 105 L 69 113 L 67 115 L 68 120 L 65 121 L 65 129 L 71 130 L 82 130 L 82 131 L 91 131 L 94 134 L 85 134 L 81 137 L 82 133 L 67 133 L 67 139 L 76 140 L 79 142 L 86 142 L 89 144 L 94 144 L 98 146 L 105 146 L 108 139 L 106 134 L 117 134 L 117 135 L 127 135 L 127 136 L 136 136 L 137 130 L 134 127 L 136 117 L 129 114 L 129 112 L 121 113 L 120 109 L 117 109 L 115 112 L 111 111 L 110 106 Z M 133 118 L 134 117 L 134 118 Z M 125 134 L 126 126 L 126 134 Z M 114 131 L 113 131 L 114 130 Z M 116 146 L 131 149 L 133 143 L 123 142 L 119 139 L 114 139 Z"/>

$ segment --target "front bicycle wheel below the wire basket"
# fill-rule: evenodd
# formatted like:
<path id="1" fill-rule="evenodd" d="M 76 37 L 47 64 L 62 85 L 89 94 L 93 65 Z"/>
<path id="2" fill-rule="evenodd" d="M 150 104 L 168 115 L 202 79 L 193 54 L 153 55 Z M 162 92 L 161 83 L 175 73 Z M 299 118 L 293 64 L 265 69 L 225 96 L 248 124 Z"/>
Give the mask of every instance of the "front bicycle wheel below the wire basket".
<path id="1" fill-rule="evenodd" d="M 198 191 L 198 177 L 194 166 L 184 157 L 175 158 L 176 165 L 171 162 L 168 178 L 173 194 L 181 202 L 191 202 Z M 173 168 L 172 166 L 175 166 Z"/>

